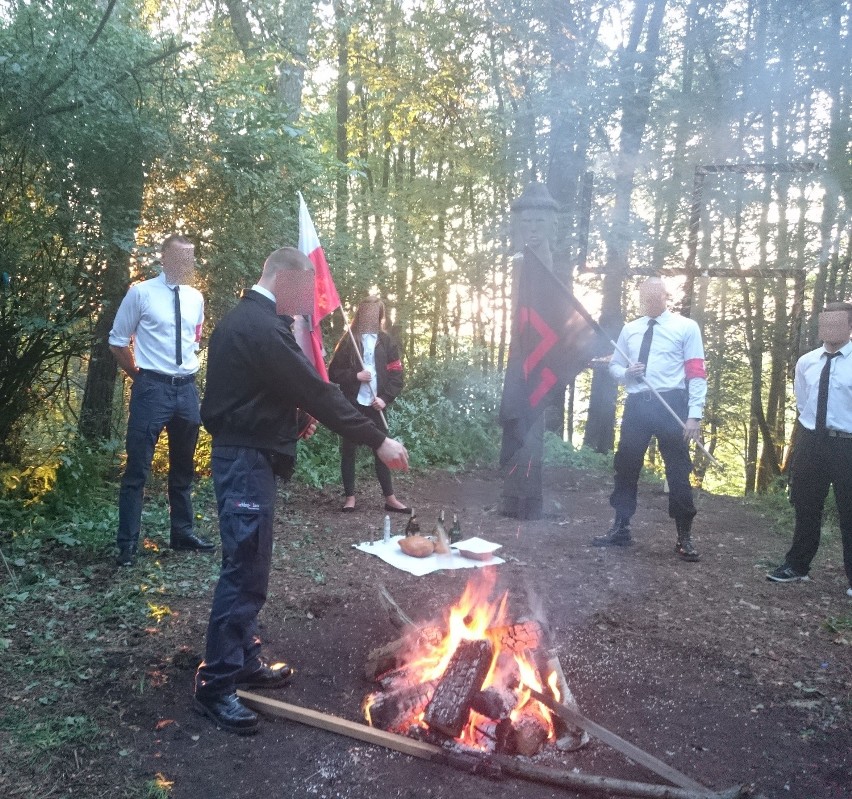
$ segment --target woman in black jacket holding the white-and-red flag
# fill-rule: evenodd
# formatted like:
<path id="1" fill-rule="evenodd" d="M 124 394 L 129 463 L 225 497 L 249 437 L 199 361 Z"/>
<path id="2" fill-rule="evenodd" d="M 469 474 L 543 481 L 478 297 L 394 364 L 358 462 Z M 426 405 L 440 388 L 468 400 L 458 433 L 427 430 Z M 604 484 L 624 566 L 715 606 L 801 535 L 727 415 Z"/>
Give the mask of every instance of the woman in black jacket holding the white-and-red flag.
<path id="1" fill-rule="evenodd" d="M 402 361 L 399 348 L 384 331 L 385 306 L 378 297 L 367 297 L 355 312 L 352 335 L 344 333 L 331 363 L 328 378 L 340 386 L 344 396 L 368 419 L 385 430 L 383 413 L 402 391 Z M 357 343 L 356 352 L 353 338 Z M 357 444 L 348 439 L 340 442 L 340 472 L 346 500 L 344 512 L 355 510 L 355 452 Z M 376 477 L 385 497 L 385 510 L 411 513 L 393 493 L 390 469 L 375 459 Z"/>

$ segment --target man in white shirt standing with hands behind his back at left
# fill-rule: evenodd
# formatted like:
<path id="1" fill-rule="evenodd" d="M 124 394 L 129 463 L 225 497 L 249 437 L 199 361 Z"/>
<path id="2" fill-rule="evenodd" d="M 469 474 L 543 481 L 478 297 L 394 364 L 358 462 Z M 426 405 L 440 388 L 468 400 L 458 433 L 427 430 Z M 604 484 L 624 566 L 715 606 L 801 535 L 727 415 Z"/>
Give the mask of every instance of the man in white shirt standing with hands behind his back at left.
<path id="1" fill-rule="evenodd" d="M 133 565 L 145 481 L 163 428 L 169 434 L 169 545 L 182 550 L 215 549 L 193 530 L 191 488 L 201 426 L 195 373 L 204 323 L 204 298 L 189 285 L 195 248 L 183 236 L 169 236 L 162 245 L 161 261 L 162 274 L 130 287 L 109 334 L 112 354 L 133 381 L 127 463 L 118 499 L 119 566 Z"/>

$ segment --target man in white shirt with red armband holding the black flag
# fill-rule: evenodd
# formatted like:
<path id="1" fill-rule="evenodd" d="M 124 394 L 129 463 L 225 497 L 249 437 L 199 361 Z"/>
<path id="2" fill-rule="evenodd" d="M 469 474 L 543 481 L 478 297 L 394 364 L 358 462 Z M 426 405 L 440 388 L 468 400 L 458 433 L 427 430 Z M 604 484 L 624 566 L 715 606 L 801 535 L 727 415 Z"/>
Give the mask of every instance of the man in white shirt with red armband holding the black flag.
<path id="1" fill-rule="evenodd" d="M 625 386 L 627 400 L 621 419 L 621 435 L 615 453 L 615 488 L 609 504 L 615 521 L 609 532 L 592 540 L 594 546 L 628 546 L 630 519 L 636 511 L 639 473 L 645 452 L 656 436 L 666 467 L 669 516 L 677 528 L 675 552 L 682 560 L 697 561 L 692 543 L 692 461 L 689 442 L 697 441 L 707 396 L 704 344 L 692 320 L 667 310 L 668 292 L 660 278 L 648 278 L 639 287 L 643 316 L 628 322 L 618 337 L 610 361 L 610 374 Z M 626 356 L 626 357 L 625 357 Z M 653 387 L 675 411 L 675 419 Z"/>

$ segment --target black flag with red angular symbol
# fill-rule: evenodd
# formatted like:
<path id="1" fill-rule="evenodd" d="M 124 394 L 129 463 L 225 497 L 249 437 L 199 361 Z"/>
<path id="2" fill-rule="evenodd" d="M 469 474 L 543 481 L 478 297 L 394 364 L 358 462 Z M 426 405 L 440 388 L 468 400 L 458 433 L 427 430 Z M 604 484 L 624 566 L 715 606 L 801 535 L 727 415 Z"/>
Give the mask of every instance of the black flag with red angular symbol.
<path id="1" fill-rule="evenodd" d="M 501 466 L 524 445 L 539 414 L 563 401 L 566 384 L 594 354 L 596 338 L 586 309 L 531 250 L 515 268 L 517 303 L 500 403 Z"/>

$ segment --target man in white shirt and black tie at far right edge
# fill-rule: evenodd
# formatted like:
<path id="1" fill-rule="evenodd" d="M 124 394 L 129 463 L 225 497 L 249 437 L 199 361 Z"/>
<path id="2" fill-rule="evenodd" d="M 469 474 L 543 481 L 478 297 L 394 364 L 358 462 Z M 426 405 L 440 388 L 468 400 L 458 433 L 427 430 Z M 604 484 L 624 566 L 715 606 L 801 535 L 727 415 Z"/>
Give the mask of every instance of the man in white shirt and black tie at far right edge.
<path id="1" fill-rule="evenodd" d="M 852 596 L 852 303 L 833 302 L 819 315 L 823 346 L 796 363 L 793 390 L 799 411 L 790 463 L 790 502 L 796 514 L 784 563 L 766 575 L 779 583 L 807 580 L 819 548 L 828 489 L 843 540 L 843 564 Z"/>

